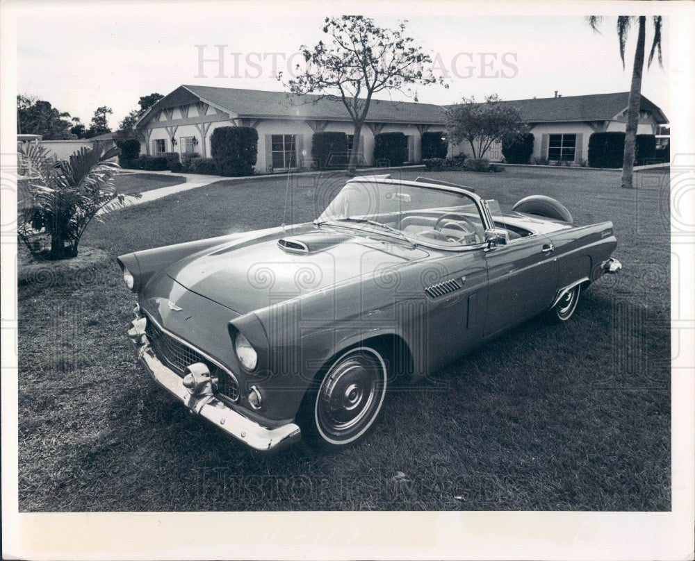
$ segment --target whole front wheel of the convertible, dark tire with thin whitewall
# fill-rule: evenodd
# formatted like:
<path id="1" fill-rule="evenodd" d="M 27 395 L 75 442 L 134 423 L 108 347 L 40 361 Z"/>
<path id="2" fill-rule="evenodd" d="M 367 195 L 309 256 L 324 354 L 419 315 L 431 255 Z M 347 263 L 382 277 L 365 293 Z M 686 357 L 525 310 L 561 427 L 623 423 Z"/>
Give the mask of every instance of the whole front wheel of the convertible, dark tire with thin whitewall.
<path id="1" fill-rule="evenodd" d="M 387 377 L 382 355 L 370 347 L 337 358 L 304 398 L 300 422 L 307 442 L 338 449 L 366 435 L 382 409 Z"/>

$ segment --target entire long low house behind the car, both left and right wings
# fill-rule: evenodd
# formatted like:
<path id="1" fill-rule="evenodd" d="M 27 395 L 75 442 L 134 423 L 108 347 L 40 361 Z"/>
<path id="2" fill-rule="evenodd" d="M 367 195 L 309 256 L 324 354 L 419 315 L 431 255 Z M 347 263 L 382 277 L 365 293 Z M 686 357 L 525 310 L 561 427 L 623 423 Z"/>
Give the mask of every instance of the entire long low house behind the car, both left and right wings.
<path id="1" fill-rule="evenodd" d="M 503 101 L 518 108 L 534 135 L 533 156 L 550 161 L 587 160 L 589 136 L 598 131 L 625 131 L 628 92 Z M 375 135 L 401 132 L 408 138 L 408 162 L 418 163 L 420 137 L 445 130 L 447 106 L 373 100 L 359 138 L 359 163 L 373 159 Z M 668 119 L 642 97 L 639 134 L 655 134 Z M 316 95 L 181 85 L 140 117 L 136 129 L 145 140 L 144 153 L 196 153 L 211 156 L 211 135 L 219 126 L 251 126 L 259 133 L 256 171 L 311 167 L 311 140 L 318 131 L 344 132 L 350 149 L 354 126 L 341 101 Z M 467 142 L 450 146 L 450 155 L 467 153 Z M 500 143 L 486 158 L 501 160 Z"/>

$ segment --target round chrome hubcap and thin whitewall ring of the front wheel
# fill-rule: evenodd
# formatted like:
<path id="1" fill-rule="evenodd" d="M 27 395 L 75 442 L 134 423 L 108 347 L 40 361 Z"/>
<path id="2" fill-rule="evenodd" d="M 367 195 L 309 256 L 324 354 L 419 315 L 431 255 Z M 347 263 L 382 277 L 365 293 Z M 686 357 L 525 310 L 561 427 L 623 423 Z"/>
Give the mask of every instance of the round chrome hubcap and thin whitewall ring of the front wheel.
<path id="1" fill-rule="evenodd" d="M 332 442 L 350 442 L 379 412 L 386 386 L 379 360 L 353 353 L 339 360 L 324 378 L 316 399 L 320 432 Z"/>

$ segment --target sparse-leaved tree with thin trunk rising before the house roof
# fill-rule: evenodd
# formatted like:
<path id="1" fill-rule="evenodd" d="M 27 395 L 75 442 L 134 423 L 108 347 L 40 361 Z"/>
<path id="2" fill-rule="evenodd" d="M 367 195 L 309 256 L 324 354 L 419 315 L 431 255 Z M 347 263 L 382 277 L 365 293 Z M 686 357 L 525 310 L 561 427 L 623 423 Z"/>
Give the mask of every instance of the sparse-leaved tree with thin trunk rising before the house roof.
<path id="1" fill-rule="evenodd" d="M 306 69 L 286 86 L 294 94 L 316 93 L 318 99 L 341 101 L 354 124 L 354 138 L 359 138 L 374 94 L 414 94 L 413 85 L 443 83 L 425 69 L 432 58 L 405 35 L 406 23 L 386 29 L 361 15 L 327 17 L 323 26 L 326 41 L 319 41 L 313 49 L 302 45 Z M 278 79 L 282 80 L 281 74 Z M 358 151 L 359 142 L 354 142 L 347 174 L 354 174 L 357 168 Z"/>

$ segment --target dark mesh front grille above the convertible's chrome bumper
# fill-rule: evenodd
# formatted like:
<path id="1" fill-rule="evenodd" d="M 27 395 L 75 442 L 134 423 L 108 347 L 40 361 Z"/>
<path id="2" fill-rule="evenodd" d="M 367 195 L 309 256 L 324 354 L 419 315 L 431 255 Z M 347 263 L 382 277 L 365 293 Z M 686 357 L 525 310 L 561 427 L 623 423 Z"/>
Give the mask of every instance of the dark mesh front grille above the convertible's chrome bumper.
<path id="1" fill-rule="evenodd" d="M 181 378 L 183 378 L 186 367 L 195 362 L 202 362 L 208 367 L 210 374 L 218 378 L 218 392 L 229 397 L 232 401 L 239 399 L 239 385 L 227 371 L 218 367 L 192 347 L 165 333 L 149 317 L 145 331 L 157 358 L 165 362 Z"/>

